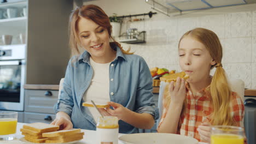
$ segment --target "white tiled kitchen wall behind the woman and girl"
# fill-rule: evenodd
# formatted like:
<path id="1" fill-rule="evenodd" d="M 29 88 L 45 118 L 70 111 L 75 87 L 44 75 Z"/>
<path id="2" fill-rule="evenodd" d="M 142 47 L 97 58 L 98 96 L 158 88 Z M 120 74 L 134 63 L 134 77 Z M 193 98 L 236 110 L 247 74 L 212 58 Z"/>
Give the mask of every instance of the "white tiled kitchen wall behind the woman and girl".
<path id="1" fill-rule="evenodd" d="M 143 0 L 97 0 L 85 4 L 98 5 L 109 16 L 113 13 L 130 15 L 153 11 Z M 233 9 L 232 13 L 229 9 Z M 195 27 L 208 28 L 217 33 L 223 45 L 222 62 L 228 76 L 242 79 L 246 88 L 256 89 L 256 10 L 233 7 L 224 8 L 224 12 L 220 13 L 221 10 L 171 17 L 158 13 L 151 19 L 146 16 L 144 22 L 129 22 L 126 19 L 122 32 L 129 27 L 147 31 L 147 43 L 123 44 L 123 46 L 125 49 L 130 46 L 132 51 L 142 56 L 149 68 L 160 67 L 179 71 L 177 51 L 179 38 Z"/>

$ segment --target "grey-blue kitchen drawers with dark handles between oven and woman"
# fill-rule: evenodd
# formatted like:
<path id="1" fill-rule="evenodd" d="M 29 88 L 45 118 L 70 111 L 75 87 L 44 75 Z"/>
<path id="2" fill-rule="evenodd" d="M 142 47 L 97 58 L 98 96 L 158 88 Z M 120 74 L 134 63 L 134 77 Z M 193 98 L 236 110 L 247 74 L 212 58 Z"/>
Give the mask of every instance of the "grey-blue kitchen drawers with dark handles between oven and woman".
<path id="1" fill-rule="evenodd" d="M 24 123 L 51 123 L 58 94 L 59 86 L 25 85 Z"/>

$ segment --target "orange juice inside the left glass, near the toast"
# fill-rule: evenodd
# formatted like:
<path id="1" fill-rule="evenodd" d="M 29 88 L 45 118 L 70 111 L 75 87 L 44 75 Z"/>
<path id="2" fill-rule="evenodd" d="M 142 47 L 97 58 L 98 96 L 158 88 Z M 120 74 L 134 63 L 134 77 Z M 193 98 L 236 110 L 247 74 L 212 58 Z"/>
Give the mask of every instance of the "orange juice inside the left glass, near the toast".
<path id="1" fill-rule="evenodd" d="M 16 126 L 16 118 L 0 118 L 0 135 L 15 134 Z"/>

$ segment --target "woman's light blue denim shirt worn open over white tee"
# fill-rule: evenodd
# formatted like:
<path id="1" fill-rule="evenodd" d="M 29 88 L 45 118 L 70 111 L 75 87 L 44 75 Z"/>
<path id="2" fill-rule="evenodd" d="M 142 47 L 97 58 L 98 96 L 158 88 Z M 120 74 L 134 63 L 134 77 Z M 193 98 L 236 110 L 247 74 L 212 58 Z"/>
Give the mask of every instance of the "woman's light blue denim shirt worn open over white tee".
<path id="1" fill-rule="evenodd" d="M 155 120 L 158 119 L 159 111 L 153 103 L 152 76 L 147 63 L 140 56 L 123 54 L 119 47 L 116 47 L 116 51 L 117 56 L 109 65 L 110 101 L 137 113 L 149 113 Z M 54 109 L 56 113 L 67 113 L 74 128 L 96 130 L 96 122 L 89 109 L 82 106 L 83 95 L 90 86 L 93 75 L 89 57 L 89 52 L 85 51 L 79 57 L 71 58 L 60 98 Z M 138 133 L 138 128 L 120 120 L 119 133 Z"/>

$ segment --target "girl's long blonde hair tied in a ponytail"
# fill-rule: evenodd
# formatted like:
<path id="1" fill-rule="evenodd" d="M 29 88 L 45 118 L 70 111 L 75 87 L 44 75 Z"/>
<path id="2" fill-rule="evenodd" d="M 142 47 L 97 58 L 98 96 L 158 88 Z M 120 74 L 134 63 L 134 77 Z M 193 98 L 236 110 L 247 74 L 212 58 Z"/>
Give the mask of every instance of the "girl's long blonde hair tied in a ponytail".
<path id="1" fill-rule="evenodd" d="M 225 71 L 222 68 L 223 52 L 218 36 L 208 29 L 195 28 L 185 33 L 179 40 L 179 44 L 184 37 L 188 36 L 205 45 L 206 49 L 210 52 L 211 57 L 216 62 L 216 64 L 211 67 L 211 69 L 216 67 L 216 71 L 212 77 L 210 87 L 207 89 L 211 93 L 213 105 L 213 113 L 210 123 L 212 125 L 235 125 L 229 107 L 231 101 L 231 88 L 229 87 Z M 168 95 L 167 92 L 165 93 Z M 164 104 L 168 103 L 170 103 L 170 98 L 168 101 L 164 102 Z"/>

